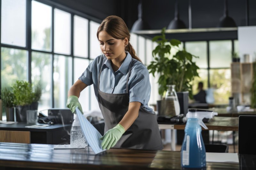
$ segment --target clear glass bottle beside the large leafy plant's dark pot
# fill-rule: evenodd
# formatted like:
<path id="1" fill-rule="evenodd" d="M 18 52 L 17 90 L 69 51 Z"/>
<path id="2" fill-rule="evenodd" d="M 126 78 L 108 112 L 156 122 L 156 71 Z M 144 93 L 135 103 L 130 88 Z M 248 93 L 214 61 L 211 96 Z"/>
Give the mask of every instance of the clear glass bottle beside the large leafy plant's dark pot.
<path id="1" fill-rule="evenodd" d="M 180 115 L 180 103 L 177 93 L 175 91 L 175 85 L 167 85 L 167 91 L 165 93 L 165 114 L 176 116 Z"/>

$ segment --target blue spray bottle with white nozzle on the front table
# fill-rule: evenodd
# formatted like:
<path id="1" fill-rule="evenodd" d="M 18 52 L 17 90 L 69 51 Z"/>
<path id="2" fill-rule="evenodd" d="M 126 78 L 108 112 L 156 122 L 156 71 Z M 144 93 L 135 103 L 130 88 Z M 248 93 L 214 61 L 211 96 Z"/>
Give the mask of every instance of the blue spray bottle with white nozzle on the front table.
<path id="1" fill-rule="evenodd" d="M 218 113 L 203 109 L 188 109 L 185 135 L 181 146 L 181 166 L 184 168 L 204 168 L 206 154 L 202 137 L 202 128 L 208 129 L 204 118 L 212 118 Z M 201 125 L 201 126 L 200 126 Z"/>

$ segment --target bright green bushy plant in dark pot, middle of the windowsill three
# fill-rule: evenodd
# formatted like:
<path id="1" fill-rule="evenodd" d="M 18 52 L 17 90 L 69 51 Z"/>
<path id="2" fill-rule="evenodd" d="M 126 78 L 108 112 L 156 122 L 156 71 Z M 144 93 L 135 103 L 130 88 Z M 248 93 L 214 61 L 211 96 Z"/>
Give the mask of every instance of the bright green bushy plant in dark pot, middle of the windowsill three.
<path id="1" fill-rule="evenodd" d="M 13 94 L 16 103 L 16 120 L 17 122 L 27 121 L 27 110 L 33 102 L 33 89 L 29 82 L 16 80 L 12 85 Z"/>

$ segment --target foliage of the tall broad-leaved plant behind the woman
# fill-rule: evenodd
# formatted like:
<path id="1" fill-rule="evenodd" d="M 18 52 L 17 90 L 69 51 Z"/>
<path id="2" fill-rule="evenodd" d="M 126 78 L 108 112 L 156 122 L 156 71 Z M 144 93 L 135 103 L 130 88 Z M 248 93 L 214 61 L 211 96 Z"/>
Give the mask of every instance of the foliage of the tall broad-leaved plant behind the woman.
<path id="1" fill-rule="evenodd" d="M 181 42 L 176 39 L 168 40 L 165 38 L 165 27 L 161 31 L 161 35 L 155 36 L 152 41 L 158 43 L 152 51 L 154 60 L 148 65 L 148 70 L 155 77 L 158 73 L 160 95 L 164 95 L 167 90 L 166 85 L 176 85 L 176 92 L 189 92 L 189 97 L 192 99 L 192 81 L 198 76 L 197 69 L 199 67 L 195 62 L 192 62 L 193 57 L 185 49 L 180 48 Z M 171 54 L 171 48 L 177 51 Z M 173 56 L 171 56 L 173 55 Z"/>

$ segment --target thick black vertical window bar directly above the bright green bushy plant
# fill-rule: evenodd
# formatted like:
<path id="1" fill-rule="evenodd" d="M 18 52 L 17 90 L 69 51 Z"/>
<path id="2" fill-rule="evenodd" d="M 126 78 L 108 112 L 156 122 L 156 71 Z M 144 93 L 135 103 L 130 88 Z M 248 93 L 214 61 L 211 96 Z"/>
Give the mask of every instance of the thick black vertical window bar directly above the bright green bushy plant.
<path id="1" fill-rule="evenodd" d="M 28 78 L 28 82 L 31 82 L 31 12 L 32 8 L 31 8 L 31 0 L 27 0 L 27 16 L 26 16 L 26 20 L 27 20 L 27 24 L 26 24 L 26 48 L 28 48 L 28 70 L 27 70 L 27 78 Z"/>

